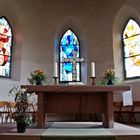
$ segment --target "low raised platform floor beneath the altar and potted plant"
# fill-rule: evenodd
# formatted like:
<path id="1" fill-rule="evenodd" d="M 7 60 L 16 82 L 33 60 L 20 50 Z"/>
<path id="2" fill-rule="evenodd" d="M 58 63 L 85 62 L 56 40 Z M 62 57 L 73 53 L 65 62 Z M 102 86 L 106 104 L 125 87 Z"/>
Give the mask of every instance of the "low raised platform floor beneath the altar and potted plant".
<path id="1" fill-rule="evenodd" d="M 0 124 L 1 140 L 140 140 L 140 129 L 116 123 L 103 128 L 101 122 L 49 122 L 45 129 L 36 126 L 17 133 L 15 124 Z"/>

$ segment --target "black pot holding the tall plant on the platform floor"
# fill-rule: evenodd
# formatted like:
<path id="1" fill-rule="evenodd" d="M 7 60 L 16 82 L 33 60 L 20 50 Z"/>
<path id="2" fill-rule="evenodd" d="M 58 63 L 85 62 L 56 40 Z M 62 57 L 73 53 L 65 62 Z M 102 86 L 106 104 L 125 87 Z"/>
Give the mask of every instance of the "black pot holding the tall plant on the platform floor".
<path id="1" fill-rule="evenodd" d="M 26 131 L 26 122 L 24 121 L 17 121 L 17 132 L 24 133 Z"/>

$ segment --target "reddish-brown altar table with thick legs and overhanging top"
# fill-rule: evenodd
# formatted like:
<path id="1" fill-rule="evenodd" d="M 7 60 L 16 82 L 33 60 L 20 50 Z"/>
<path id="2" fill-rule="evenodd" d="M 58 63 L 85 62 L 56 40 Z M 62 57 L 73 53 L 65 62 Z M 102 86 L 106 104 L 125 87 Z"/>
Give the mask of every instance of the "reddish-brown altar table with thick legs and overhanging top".
<path id="1" fill-rule="evenodd" d="M 114 126 L 113 94 L 130 90 L 130 86 L 22 85 L 38 95 L 38 128 L 45 127 L 46 113 L 102 113 L 103 127 Z"/>

